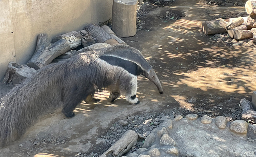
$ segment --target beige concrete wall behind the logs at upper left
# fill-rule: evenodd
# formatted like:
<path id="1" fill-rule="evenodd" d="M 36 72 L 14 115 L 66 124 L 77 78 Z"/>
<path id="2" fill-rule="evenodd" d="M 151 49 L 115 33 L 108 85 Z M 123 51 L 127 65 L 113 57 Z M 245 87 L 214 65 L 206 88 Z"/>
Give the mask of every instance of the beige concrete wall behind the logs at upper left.
<path id="1" fill-rule="evenodd" d="M 10 61 L 25 64 L 37 35 L 52 37 L 100 24 L 112 16 L 113 0 L 0 0 L 0 79 Z"/>

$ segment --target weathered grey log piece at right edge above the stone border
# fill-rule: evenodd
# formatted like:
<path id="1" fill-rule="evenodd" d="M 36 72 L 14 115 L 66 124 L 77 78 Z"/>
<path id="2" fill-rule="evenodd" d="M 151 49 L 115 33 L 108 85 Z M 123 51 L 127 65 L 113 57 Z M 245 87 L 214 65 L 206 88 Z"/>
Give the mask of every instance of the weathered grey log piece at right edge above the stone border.
<path id="1" fill-rule="evenodd" d="M 252 104 L 243 98 L 240 100 L 240 105 L 242 108 L 242 120 L 256 123 L 256 111 L 252 108 Z"/>

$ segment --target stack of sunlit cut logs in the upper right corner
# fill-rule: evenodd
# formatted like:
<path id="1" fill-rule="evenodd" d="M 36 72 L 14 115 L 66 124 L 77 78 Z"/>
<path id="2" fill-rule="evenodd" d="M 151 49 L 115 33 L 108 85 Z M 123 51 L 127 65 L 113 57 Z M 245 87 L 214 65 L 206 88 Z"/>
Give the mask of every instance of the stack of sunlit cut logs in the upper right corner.
<path id="1" fill-rule="evenodd" d="M 248 16 L 216 19 L 202 22 L 202 31 L 205 35 L 228 33 L 237 40 L 252 39 L 256 43 L 256 0 L 248 0 L 245 4 Z"/>

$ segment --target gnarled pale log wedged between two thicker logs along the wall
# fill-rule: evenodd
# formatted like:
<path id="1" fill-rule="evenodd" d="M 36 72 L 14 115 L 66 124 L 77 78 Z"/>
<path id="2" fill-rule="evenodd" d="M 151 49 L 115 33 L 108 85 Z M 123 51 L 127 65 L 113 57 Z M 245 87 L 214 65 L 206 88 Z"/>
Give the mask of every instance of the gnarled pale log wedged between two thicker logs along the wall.
<path id="1" fill-rule="evenodd" d="M 66 39 L 70 44 L 70 49 L 75 49 L 76 47 L 81 45 L 81 40 L 83 37 L 89 37 L 89 33 L 87 31 L 71 31 L 66 34 L 58 35 L 52 39 L 52 43 L 60 39 Z"/>

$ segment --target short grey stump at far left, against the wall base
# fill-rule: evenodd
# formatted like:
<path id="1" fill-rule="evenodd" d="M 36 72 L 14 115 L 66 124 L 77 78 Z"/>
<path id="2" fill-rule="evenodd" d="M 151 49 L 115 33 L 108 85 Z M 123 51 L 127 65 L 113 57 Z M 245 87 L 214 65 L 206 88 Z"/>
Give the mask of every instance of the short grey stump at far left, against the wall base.
<path id="1" fill-rule="evenodd" d="M 3 81 L 5 84 L 13 85 L 21 83 L 25 78 L 31 77 L 36 70 L 27 65 L 20 65 L 14 62 L 8 63 Z"/>

